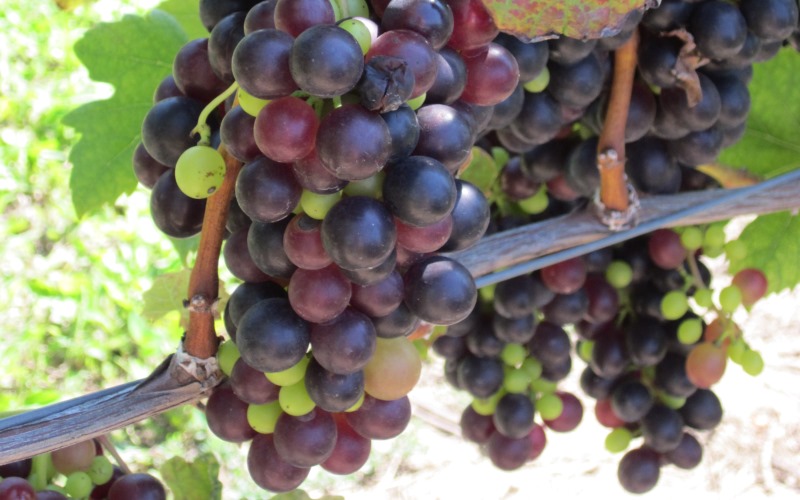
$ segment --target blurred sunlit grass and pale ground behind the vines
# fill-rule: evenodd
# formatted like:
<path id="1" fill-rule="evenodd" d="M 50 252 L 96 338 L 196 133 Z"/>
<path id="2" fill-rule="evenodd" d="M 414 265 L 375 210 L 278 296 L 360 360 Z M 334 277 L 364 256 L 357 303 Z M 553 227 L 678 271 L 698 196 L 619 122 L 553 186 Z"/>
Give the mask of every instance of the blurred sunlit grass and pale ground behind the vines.
<path id="1" fill-rule="evenodd" d="M 145 377 L 181 336 L 177 314 L 143 317 L 143 293 L 155 277 L 184 267 L 148 214 L 139 188 L 82 220 L 69 192 L 70 148 L 78 137 L 62 125 L 78 105 L 107 98 L 72 46 L 98 22 L 141 14 L 151 0 L 5 0 L 0 10 L 0 414 Z M 98 185 L 97 189 L 103 189 Z M 729 229 L 736 231 L 735 224 Z M 719 284 L 730 280 L 710 262 Z M 229 287 L 229 291 L 232 288 Z M 766 368 L 758 378 L 737 366 L 717 387 L 723 424 L 702 437 L 694 471 L 665 468 L 650 498 L 800 498 L 800 294 L 760 302 L 740 318 Z M 429 359 L 411 394 L 415 417 L 389 442 L 374 442 L 359 473 L 312 472 L 304 489 L 316 498 L 573 498 L 603 492 L 627 497 L 617 484 L 619 456 L 603 448 L 606 432 L 584 398 L 583 424 L 548 433 L 542 456 L 523 469 L 494 469 L 464 442 L 458 421 L 469 398 L 446 385 L 443 364 Z M 579 394 L 575 369 L 564 388 Z M 158 474 L 173 456 L 212 452 L 223 498 L 268 498 L 247 476 L 246 449 L 211 435 L 205 418 L 184 407 L 111 436 L 132 468 Z"/>

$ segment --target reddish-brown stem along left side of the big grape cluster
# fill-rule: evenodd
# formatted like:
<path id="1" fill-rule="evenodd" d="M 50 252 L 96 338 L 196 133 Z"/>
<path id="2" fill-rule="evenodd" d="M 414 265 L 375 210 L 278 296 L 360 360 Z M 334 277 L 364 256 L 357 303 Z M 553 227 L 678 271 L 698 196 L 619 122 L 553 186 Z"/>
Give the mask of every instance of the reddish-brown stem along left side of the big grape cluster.
<path id="1" fill-rule="evenodd" d="M 219 294 L 219 254 L 236 177 L 242 168 L 241 162 L 228 153 L 224 144 L 219 147 L 219 152 L 225 159 L 225 179 L 206 203 L 197 261 L 189 279 L 189 329 L 184 349 L 200 359 L 210 358 L 217 352 L 214 316 Z"/>

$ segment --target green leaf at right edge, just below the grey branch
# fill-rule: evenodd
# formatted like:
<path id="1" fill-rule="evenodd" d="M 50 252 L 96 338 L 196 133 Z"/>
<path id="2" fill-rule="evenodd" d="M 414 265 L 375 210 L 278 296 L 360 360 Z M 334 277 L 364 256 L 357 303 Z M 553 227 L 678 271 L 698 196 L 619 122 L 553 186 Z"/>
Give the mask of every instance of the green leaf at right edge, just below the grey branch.
<path id="1" fill-rule="evenodd" d="M 730 272 L 754 267 L 767 276 L 769 293 L 800 283 L 800 217 L 789 212 L 761 215 L 739 236 L 747 256 L 731 263 Z"/>

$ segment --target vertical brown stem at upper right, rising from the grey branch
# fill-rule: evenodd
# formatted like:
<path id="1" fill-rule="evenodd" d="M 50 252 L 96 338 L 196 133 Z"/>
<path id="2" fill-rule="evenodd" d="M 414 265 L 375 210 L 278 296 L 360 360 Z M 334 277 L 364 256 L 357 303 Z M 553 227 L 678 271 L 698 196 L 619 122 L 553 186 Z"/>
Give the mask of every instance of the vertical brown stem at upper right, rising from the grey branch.
<path id="1" fill-rule="evenodd" d="M 625 175 L 625 127 L 636 73 L 639 33 L 614 52 L 614 79 L 608 101 L 603 132 L 597 144 L 597 168 L 600 170 L 599 203 L 601 220 L 610 228 L 621 230 L 633 223 L 637 209 L 635 191 Z M 620 218 L 620 214 L 623 215 Z"/>

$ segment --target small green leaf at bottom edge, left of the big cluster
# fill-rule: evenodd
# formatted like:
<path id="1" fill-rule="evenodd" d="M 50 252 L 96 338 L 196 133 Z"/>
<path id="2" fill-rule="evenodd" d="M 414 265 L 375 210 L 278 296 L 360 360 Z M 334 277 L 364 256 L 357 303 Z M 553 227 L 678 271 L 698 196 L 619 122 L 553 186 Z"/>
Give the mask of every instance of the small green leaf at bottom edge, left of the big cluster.
<path id="1" fill-rule="evenodd" d="M 161 466 L 161 476 L 172 490 L 175 500 L 222 498 L 219 462 L 210 453 L 200 455 L 194 462 L 187 462 L 181 457 L 170 458 Z"/>

